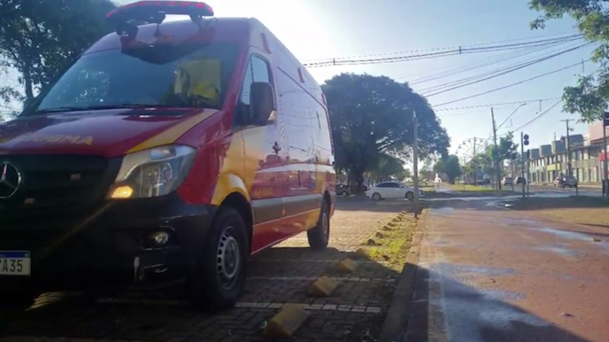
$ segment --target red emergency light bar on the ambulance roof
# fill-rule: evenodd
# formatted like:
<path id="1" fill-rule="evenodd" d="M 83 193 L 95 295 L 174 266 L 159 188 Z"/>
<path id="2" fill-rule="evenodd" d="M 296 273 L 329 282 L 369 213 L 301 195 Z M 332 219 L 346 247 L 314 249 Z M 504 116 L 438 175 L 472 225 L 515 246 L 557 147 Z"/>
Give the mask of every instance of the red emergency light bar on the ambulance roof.
<path id="1" fill-rule="evenodd" d="M 138 1 L 107 12 L 106 18 L 116 25 L 130 21 L 160 24 L 166 14 L 188 15 L 196 20 L 213 17 L 214 10 L 209 4 L 194 1 Z"/>

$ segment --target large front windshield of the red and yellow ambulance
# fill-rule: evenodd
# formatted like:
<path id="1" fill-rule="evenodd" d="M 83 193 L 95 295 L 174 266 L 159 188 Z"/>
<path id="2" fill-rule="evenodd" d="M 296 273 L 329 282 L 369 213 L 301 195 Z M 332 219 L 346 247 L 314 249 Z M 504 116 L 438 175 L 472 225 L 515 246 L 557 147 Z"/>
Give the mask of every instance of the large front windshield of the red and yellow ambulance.
<path id="1" fill-rule="evenodd" d="M 28 113 L 130 106 L 221 108 L 232 43 L 139 46 L 83 55 Z M 28 114 L 24 113 L 24 114 Z"/>

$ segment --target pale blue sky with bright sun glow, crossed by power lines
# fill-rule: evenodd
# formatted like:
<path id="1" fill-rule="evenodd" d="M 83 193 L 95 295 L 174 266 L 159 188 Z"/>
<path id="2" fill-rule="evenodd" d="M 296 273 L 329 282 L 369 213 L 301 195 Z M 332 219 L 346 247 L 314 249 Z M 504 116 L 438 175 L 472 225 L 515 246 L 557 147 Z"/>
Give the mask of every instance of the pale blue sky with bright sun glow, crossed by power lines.
<path id="1" fill-rule="evenodd" d="M 131 2 L 133 1 L 118 1 L 119 4 Z M 527 0 L 379 0 L 376 2 L 369 0 L 209 0 L 207 2 L 214 8 L 218 17 L 260 19 L 302 62 L 311 62 L 319 58 L 428 50 L 577 32 L 573 27 L 573 20 L 568 18 L 551 21 L 544 30 L 531 31 L 529 23 L 539 13 L 531 11 L 527 3 Z M 542 53 L 549 53 L 549 51 L 566 49 L 573 44 L 540 51 L 527 58 L 534 58 Z M 502 87 L 577 63 L 581 59 L 587 59 L 591 50 L 588 47 L 569 52 L 514 73 L 428 97 L 428 100 L 431 105 L 439 105 L 488 89 Z M 323 82 L 335 74 L 344 72 L 386 75 L 399 82 L 408 82 L 416 77 L 435 74 L 441 71 L 441 68 L 463 65 L 506 53 L 513 52 L 458 55 L 367 66 L 317 67 L 311 68 L 310 71 L 318 82 Z M 489 68 L 507 66 L 510 63 L 515 63 L 515 61 L 503 62 L 489 66 Z M 596 67 L 590 63 L 585 65 L 586 74 L 595 69 Z M 489 69 L 471 71 L 452 79 L 413 85 L 413 88 L 415 90 L 423 89 L 486 70 Z M 577 66 L 510 89 L 455 102 L 451 105 L 435 107 L 436 113 L 442 120 L 442 125 L 447 128 L 448 135 L 451 137 L 451 151 L 454 152 L 456 146 L 464 139 L 472 136 L 483 138 L 490 136 L 490 108 L 442 109 L 560 97 L 562 89 L 565 86 L 573 85 L 577 74 L 581 73 L 581 66 Z M 555 102 L 543 102 L 542 110 Z M 517 128 L 531 120 L 539 112 L 539 106 L 539 104 L 528 104 L 521 107 L 513 116 L 512 128 Z M 498 123 L 501 123 L 517 107 L 518 104 L 495 107 L 494 113 Z M 577 119 L 576 115 L 561 113 L 561 108 L 562 105 L 556 106 L 550 113 L 525 128 L 526 133 L 531 136 L 532 147 L 549 144 L 555 132 L 557 136 L 564 135 L 565 123 L 559 120 Z M 510 122 L 506 123 L 506 126 L 509 125 Z M 576 124 L 574 128 L 574 133 L 587 131 L 587 126 L 583 124 Z M 507 133 L 509 129 L 504 126 L 500 129 L 499 134 Z M 519 136 L 519 131 L 516 134 Z"/>

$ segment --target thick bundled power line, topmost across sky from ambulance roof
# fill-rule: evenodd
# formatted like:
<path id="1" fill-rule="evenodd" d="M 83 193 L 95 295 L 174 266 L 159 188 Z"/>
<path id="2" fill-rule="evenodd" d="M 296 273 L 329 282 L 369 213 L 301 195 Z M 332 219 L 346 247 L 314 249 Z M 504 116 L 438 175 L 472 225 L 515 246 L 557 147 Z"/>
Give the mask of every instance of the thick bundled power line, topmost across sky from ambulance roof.
<path id="1" fill-rule="evenodd" d="M 446 57 L 453 55 L 462 55 L 468 53 L 480 53 L 480 52 L 491 52 L 491 51 L 503 51 L 503 50 L 513 50 L 518 48 L 529 48 L 534 46 L 541 46 L 543 44 L 547 44 L 550 42 L 561 42 L 573 39 L 575 36 L 581 35 L 572 35 L 560 38 L 539 40 L 534 42 L 526 42 L 526 43 L 514 43 L 514 44 L 503 44 L 503 45 L 494 45 L 494 46 L 486 46 L 479 48 L 458 48 L 449 51 L 439 51 L 439 52 L 430 52 L 416 55 L 407 55 L 407 56 L 398 56 L 398 57 L 386 57 L 386 58 L 365 58 L 365 59 L 336 59 L 331 58 L 324 62 L 318 63 L 306 63 L 304 66 L 307 67 L 318 67 L 318 66 L 356 66 L 362 64 L 379 64 L 379 63 L 393 63 L 393 62 L 401 62 L 405 60 L 416 60 L 423 58 L 438 58 L 438 57 Z"/>

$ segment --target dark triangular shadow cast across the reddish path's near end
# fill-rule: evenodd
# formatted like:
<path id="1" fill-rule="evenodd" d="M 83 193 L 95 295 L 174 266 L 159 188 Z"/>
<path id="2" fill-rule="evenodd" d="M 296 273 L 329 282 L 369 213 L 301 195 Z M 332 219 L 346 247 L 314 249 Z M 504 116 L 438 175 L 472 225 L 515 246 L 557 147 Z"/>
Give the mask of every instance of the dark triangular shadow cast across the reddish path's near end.
<path id="1" fill-rule="evenodd" d="M 417 267 L 416 275 L 402 341 L 588 341 L 521 309 L 518 299 L 510 303 L 510 293 L 474 288 L 427 268 Z"/>

